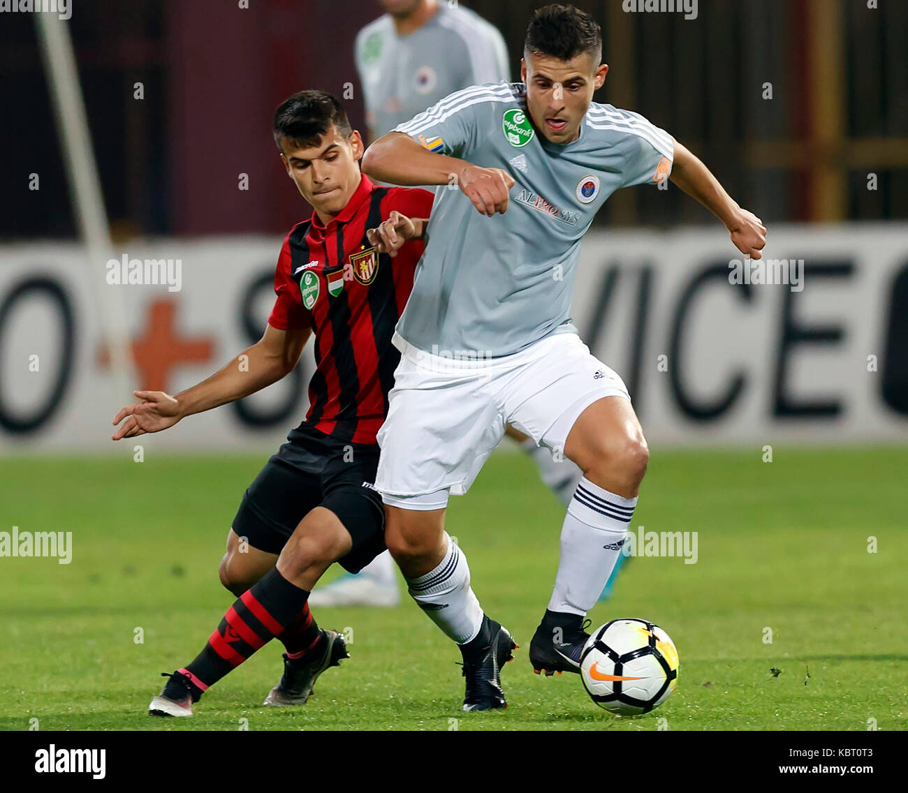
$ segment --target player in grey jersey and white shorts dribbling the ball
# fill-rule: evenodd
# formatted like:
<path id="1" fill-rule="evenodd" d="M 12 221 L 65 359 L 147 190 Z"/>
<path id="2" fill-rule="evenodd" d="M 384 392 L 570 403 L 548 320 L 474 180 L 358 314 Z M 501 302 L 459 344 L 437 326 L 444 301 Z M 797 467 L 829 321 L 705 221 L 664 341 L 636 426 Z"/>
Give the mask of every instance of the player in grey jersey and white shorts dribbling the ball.
<path id="1" fill-rule="evenodd" d="M 444 530 L 505 422 L 583 471 L 561 529 L 558 573 L 530 642 L 535 671 L 578 671 L 584 618 L 626 541 L 649 452 L 627 388 L 568 321 L 580 240 L 619 188 L 670 178 L 759 259 L 765 228 L 706 166 L 637 113 L 593 103 L 605 81 L 598 25 L 549 5 L 528 28 L 523 83 L 452 94 L 373 143 L 370 176 L 438 191 L 400 322 L 401 350 L 375 485 L 410 594 L 457 641 L 465 710 L 505 705 L 513 640 L 469 585 Z M 399 224 L 398 224 L 399 225 Z M 382 245 L 400 241 L 380 228 Z M 395 237 L 398 237 L 396 240 Z"/>

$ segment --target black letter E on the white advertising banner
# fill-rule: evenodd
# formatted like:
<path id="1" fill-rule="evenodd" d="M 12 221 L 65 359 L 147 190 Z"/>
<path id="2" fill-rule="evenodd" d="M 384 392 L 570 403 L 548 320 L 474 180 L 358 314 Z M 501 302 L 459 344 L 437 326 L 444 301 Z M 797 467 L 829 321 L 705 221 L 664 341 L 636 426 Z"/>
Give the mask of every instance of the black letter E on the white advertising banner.
<path id="1" fill-rule="evenodd" d="M 804 284 L 816 288 L 819 279 L 851 278 L 854 262 L 804 265 Z M 839 399 L 806 400 L 797 399 L 788 393 L 786 382 L 789 373 L 790 356 L 798 345 L 805 344 L 839 344 L 844 336 L 842 328 L 837 326 L 806 325 L 795 318 L 795 296 L 804 292 L 793 292 L 785 289 L 782 299 L 782 335 L 775 354 L 775 399 L 773 415 L 780 418 L 828 418 L 842 413 L 842 402 Z"/>

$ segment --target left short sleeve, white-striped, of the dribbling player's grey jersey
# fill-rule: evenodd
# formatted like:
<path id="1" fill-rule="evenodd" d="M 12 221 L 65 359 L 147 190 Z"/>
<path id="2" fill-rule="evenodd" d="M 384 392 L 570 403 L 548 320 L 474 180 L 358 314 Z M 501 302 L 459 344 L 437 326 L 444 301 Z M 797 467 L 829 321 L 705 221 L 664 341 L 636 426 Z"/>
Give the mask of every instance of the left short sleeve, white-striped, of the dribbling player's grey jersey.
<path id="1" fill-rule="evenodd" d="M 429 152 L 464 157 L 477 145 L 479 107 L 494 99 L 492 86 L 473 86 L 449 94 L 394 132 L 404 132 Z"/>

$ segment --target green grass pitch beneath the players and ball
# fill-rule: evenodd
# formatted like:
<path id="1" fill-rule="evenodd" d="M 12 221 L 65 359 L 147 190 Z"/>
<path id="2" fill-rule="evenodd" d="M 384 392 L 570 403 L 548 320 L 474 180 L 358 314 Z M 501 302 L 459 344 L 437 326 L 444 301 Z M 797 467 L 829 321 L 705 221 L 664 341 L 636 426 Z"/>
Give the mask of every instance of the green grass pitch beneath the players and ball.
<path id="1" fill-rule="evenodd" d="M 908 449 L 761 455 L 653 454 L 632 528 L 696 531 L 698 561 L 634 559 L 590 613 L 594 626 L 644 617 L 676 642 L 677 690 L 633 719 L 595 707 L 576 676 L 529 665 L 563 510 L 524 455 L 493 455 L 448 517 L 480 602 L 521 645 L 507 710 L 461 711 L 459 653 L 405 598 L 316 613 L 351 629 L 352 657 L 308 705 L 262 708 L 275 642 L 187 720 L 150 719 L 148 701 L 232 602 L 216 568 L 267 455 L 6 459 L 0 530 L 72 531 L 74 552 L 68 565 L 0 558 L 0 729 L 905 729 Z"/>

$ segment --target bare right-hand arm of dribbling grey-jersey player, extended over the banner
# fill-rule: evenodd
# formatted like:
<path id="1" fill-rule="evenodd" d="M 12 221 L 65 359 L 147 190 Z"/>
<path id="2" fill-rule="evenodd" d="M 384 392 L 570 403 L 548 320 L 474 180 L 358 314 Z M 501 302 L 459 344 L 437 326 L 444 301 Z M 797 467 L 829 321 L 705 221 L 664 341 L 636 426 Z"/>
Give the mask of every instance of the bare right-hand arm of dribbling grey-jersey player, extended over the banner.
<path id="1" fill-rule="evenodd" d="M 725 223 L 737 250 L 752 259 L 760 259 L 766 244 L 766 227 L 753 212 L 741 209 L 725 192 L 715 176 L 686 147 L 675 143 L 675 161 L 671 181 L 710 210 Z"/>

